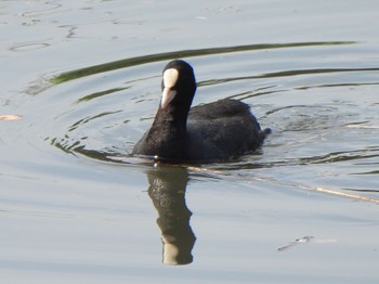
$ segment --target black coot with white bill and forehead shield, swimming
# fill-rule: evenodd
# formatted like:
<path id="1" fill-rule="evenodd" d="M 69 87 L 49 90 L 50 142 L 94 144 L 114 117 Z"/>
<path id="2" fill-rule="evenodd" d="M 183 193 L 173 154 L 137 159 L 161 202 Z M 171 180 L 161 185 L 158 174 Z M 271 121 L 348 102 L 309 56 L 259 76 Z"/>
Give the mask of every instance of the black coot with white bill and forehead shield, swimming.
<path id="1" fill-rule="evenodd" d="M 225 162 L 257 150 L 271 131 L 261 130 L 250 107 L 237 100 L 191 108 L 196 80 L 182 60 L 166 65 L 161 89 L 154 122 L 135 144 L 134 155 L 175 164 Z"/>

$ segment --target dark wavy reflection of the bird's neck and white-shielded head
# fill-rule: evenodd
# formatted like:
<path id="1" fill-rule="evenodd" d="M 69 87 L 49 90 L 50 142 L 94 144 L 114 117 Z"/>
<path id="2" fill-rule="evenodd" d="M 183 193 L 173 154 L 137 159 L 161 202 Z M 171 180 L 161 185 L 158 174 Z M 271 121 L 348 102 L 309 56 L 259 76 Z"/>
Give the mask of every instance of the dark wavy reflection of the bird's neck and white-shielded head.
<path id="1" fill-rule="evenodd" d="M 158 211 L 157 224 L 164 243 L 162 262 L 188 264 L 196 236 L 191 229 L 192 212 L 185 204 L 188 172 L 185 168 L 158 166 L 148 173 L 148 195 Z"/>

